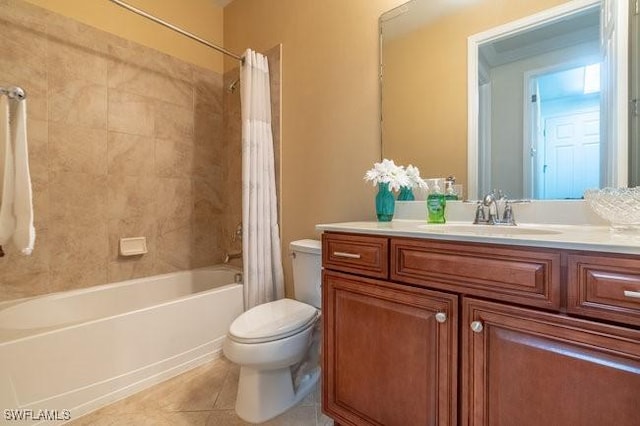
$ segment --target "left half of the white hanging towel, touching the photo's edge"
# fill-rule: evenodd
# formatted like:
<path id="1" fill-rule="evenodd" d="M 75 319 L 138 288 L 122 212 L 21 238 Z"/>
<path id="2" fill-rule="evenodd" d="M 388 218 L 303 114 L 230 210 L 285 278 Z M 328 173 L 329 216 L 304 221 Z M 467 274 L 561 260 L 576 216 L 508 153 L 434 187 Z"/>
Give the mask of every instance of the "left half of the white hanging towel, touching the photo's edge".
<path id="1" fill-rule="evenodd" d="M 9 132 L 9 100 L 0 95 L 0 245 L 9 241 L 16 229 L 13 215 L 15 173 Z"/>

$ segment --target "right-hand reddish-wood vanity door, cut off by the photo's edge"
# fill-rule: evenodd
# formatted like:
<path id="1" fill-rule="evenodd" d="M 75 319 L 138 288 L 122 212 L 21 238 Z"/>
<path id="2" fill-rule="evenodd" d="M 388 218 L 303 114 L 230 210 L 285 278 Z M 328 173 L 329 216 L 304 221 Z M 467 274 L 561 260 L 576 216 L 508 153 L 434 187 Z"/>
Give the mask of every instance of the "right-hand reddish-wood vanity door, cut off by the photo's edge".
<path id="1" fill-rule="evenodd" d="M 462 424 L 639 424 L 640 331 L 466 298 L 462 309 Z"/>

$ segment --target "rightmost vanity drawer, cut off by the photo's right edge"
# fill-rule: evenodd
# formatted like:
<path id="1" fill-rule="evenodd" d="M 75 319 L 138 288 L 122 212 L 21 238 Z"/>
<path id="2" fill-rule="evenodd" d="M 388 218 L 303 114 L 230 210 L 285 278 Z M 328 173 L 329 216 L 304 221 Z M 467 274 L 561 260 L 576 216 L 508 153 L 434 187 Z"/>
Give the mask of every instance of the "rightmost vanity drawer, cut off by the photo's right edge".
<path id="1" fill-rule="evenodd" d="M 569 255 L 567 311 L 640 326 L 640 258 Z"/>

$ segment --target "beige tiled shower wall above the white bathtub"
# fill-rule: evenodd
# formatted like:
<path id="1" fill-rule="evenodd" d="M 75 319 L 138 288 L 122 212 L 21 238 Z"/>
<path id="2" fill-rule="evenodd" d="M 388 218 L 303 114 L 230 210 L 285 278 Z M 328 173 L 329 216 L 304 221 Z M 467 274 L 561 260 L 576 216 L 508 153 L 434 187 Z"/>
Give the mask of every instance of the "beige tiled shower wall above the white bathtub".
<path id="1" fill-rule="evenodd" d="M 239 247 L 239 93 L 223 76 L 20 0 L 0 0 L 0 45 L 0 84 L 28 93 L 37 232 L 30 257 L 5 247 L 0 301 L 216 264 Z M 131 236 L 149 253 L 119 257 Z"/>

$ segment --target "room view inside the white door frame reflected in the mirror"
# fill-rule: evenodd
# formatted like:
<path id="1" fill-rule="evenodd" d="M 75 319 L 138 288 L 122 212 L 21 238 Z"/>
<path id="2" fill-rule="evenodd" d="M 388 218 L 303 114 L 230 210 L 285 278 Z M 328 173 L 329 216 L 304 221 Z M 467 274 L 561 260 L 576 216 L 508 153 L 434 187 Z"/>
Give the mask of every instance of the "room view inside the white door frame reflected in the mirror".
<path id="1" fill-rule="evenodd" d="M 594 5 L 478 45 L 479 194 L 493 182 L 539 199 L 601 186 L 599 38 Z"/>

